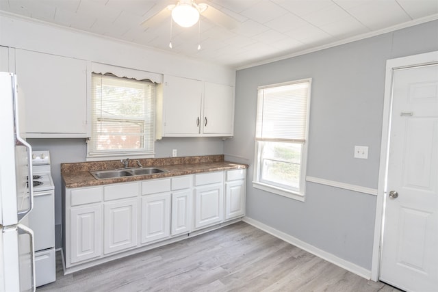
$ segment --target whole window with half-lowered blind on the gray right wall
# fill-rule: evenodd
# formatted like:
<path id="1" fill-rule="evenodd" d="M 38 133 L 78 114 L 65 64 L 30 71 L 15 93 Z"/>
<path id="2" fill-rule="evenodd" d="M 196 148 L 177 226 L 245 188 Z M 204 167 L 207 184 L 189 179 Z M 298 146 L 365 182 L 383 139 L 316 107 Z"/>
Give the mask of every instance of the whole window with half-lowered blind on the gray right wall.
<path id="1" fill-rule="evenodd" d="M 258 88 L 254 187 L 304 196 L 311 79 Z"/>

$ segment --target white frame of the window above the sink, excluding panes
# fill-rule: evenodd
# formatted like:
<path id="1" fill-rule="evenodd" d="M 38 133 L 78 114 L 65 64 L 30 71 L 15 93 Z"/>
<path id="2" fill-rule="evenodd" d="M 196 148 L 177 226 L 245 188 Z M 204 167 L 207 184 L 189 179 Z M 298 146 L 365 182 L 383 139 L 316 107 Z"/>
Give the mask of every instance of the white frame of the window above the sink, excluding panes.
<path id="1" fill-rule="evenodd" d="M 151 80 L 138 80 L 135 78 L 126 78 L 126 77 L 118 77 L 116 75 L 112 75 L 112 74 L 102 74 L 102 73 L 96 73 L 96 72 L 92 72 L 92 74 L 90 75 L 90 83 L 92 81 L 92 77 L 93 75 L 101 75 L 101 77 L 112 77 L 115 79 L 128 79 L 128 80 L 132 80 L 132 81 L 146 81 L 148 83 L 152 83 L 153 86 L 155 87 L 153 89 L 153 100 L 152 101 L 148 101 L 148 98 L 144 99 L 144 103 L 146 105 L 146 103 L 151 102 L 151 113 L 152 116 L 150 118 L 151 124 L 152 124 L 152 131 L 149 133 L 146 133 L 148 127 L 146 127 L 147 124 L 147 120 L 146 118 L 142 119 L 142 118 L 138 118 L 138 117 L 134 117 L 134 116 L 116 116 L 116 117 L 110 117 L 110 116 L 102 116 L 102 117 L 97 117 L 96 120 L 94 120 L 94 102 L 93 102 L 93 92 L 92 92 L 92 85 L 90 85 L 91 88 L 91 92 L 90 92 L 90 110 L 91 110 L 91 137 L 87 140 L 87 156 L 86 156 L 86 161 L 99 161 L 99 160 L 103 160 L 103 159 L 125 159 L 126 157 L 129 158 L 153 158 L 155 157 L 155 128 L 156 128 L 156 108 L 157 108 L 157 83 L 151 81 Z M 146 114 L 146 112 L 145 112 Z M 146 115 L 144 116 L 146 117 Z M 93 139 L 93 135 L 94 135 L 94 123 L 97 120 L 120 120 L 120 122 L 125 121 L 129 121 L 129 122 L 143 122 L 143 128 L 144 131 L 142 133 L 140 133 L 139 135 L 142 135 L 142 143 L 143 143 L 143 148 L 139 148 L 139 149 L 127 149 L 127 148 L 123 148 L 120 150 L 97 150 L 96 147 L 93 146 L 92 143 L 94 143 L 92 141 Z M 151 149 L 146 151 L 146 148 L 144 147 L 146 144 L 146 140 L 153 140 L 153 142 L 151 143 Z"/>

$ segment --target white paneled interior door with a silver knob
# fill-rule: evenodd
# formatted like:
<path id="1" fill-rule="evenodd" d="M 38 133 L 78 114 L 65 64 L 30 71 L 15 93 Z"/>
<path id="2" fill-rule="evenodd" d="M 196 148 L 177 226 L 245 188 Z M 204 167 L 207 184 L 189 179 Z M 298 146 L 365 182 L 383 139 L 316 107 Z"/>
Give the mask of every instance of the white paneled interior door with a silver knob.
<path id="1" fill-rule="evenodd" d="M 438 287 L 438 64 L 394 70 L 380 279 Z"/>

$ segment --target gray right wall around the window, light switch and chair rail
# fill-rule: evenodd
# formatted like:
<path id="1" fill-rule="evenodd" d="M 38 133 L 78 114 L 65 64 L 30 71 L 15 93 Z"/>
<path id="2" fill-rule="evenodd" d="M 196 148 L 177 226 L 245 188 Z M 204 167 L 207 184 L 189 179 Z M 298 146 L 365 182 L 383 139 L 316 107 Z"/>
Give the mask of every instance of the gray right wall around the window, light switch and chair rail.
<path id="1" fill-rule="evenodd" d="M 376 189 L 386 60 L 436 50 L 438 21 L 238 70 L 235 137 L 224 153 L 250 165 L 247 216 L 370 270 L 375 196 L 308 182 L 298 202 L 253 188 L 257 86 L 311 77 L 307 175 Z M 355 145 L 369 158 L 353 158 Z"/>

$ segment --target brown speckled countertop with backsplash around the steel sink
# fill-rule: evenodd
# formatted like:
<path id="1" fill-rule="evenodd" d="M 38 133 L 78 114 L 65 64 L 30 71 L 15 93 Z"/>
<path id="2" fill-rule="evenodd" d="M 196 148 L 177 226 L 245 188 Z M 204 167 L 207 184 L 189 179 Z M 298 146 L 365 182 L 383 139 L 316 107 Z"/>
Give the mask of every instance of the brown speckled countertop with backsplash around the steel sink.
<path id="1" fill-rule="evenodd" d="M 242 168 L 248 168 L 248 165 L 246 164 L 224 161 L 224 155 L 132 159 L 129 161 L 129 167 L 136 168 L 136 160 L 139 160 L 144 168 L 157 167 L 168 170 L 168 172 L 139 176 L 123 176 L 118 178 L 96 179 L 90 174 L 90 171 L 114 170 L 118 168 L 123 168 L 123 164 L 120 162 L 120 160 L 62 163 L 62 179 L 64 181 L 65 187 L 75 188 L 90 187 L 92 185 L 107 185 L 110 183 L 125 183 L 128 181 L 144 181 L 146 179 L 181 176 L 185 174 L 197 174 L 201 172 L 215 172 L 220 170 L 237 170 Z"/>

